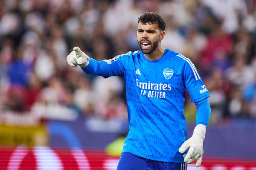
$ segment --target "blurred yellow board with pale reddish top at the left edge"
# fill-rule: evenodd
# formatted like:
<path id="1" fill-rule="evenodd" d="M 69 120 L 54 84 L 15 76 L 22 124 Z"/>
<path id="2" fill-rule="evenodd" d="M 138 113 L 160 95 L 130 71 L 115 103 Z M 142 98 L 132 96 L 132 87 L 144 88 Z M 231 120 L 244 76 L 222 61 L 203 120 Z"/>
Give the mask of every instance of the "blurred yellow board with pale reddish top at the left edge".
<path id="1" fill-rule="evenodd" d="M 0 114 L 0 146 L 45 146 L 49 135 L 44 123 L 30 113 Z"/>

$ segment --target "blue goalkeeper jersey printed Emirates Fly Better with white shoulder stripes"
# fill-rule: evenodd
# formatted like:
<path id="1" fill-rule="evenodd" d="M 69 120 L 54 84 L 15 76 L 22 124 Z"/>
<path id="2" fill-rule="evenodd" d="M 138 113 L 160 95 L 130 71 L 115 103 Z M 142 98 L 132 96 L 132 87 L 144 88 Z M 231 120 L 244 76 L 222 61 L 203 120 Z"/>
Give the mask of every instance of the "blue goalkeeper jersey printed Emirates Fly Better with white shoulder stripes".
<path id="1" fill-rule="evenodd" d="M 91 75 L 124 76 L 129 133 L 123 152 L 163 162 L 183 162 L 178 148 L 186 141 L 185 89 L 191 102 L 210 96 L 194 64 L 184 55 L 165 49 L 151 61 L 141 51 L 96 61 L 82 68 Z M 208 122 L 207 122 L 208 123 Z"/>

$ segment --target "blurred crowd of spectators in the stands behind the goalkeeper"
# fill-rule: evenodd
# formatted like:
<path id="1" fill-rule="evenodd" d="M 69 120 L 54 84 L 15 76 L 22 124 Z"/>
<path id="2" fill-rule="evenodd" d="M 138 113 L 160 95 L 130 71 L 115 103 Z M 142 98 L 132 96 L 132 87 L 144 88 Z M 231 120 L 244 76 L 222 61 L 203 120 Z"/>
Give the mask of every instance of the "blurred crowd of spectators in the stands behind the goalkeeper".
<path id="1" fill-rule="evenodd" d="M 163 47 L 196 65 L 210 123 L 256 119 L 256 0 L 1 0 L 0 114 L 127 121 L 123 78 L 86 75 L 66 56 L 75 46 L 96 60 L 139 50 L 145 11 L 164 18 Z M 194 123 L 189 95 L 184 111 Z"/>

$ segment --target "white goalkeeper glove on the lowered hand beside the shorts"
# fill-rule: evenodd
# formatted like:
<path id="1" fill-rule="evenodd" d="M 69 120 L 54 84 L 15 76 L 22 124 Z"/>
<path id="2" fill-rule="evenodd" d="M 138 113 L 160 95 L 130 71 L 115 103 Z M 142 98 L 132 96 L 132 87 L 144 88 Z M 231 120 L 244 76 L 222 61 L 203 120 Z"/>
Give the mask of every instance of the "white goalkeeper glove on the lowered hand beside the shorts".
<path id="1" fill-rule="evenodd" d="M 186 162 L 187 164 L 190 164 L 194 162 L 194 160 L 197 160 L 196 167 L 200 166 L 204 153 L 203 142 L 205 133 L 206 126 L 201 124 L 197 125 L 194 129 L 193 135 L 188 140 L 186 140 L 179 148 L 179 152 L 184 153 L 187 148 L 190 147 L 188 153 L 183 155 L 184 162 Z"/>

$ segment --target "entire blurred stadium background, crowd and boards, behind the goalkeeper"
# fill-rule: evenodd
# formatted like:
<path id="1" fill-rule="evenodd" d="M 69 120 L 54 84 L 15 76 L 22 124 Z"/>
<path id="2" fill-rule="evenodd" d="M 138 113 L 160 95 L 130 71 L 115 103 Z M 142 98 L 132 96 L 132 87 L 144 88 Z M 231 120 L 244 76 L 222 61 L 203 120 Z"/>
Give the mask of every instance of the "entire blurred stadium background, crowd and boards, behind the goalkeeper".
<path id="1" fill-rule="evenodd" d="M 211 94 L 197 169 L 256 169 L 255 0 L 1 0 L 0 169 L 115 169 L 124 81 L 86 75 L 66 56 L 138 50 L 145 11 L 163 16 L 163 46 L 190 58 Z M 191 136 L 189 96 L 184 112 Z"/>

